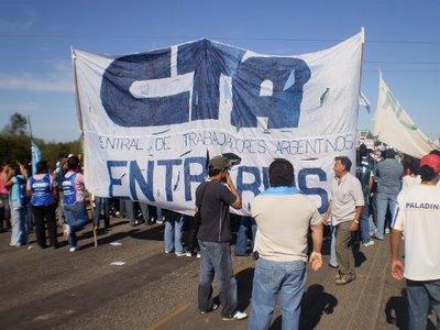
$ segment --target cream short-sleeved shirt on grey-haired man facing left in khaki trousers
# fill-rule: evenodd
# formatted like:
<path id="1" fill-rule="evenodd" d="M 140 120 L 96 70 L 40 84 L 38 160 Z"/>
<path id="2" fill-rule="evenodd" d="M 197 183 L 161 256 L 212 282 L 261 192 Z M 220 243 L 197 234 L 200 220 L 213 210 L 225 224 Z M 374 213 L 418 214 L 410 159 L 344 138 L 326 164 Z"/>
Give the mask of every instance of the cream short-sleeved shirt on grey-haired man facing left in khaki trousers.
<path id="1" fill-rule="evenodd" d="M 342 178 L 333 178 L 331 184 L 331 217 L 332 224 L 352 221 L 356 206 L 364 206 L 364 195 L 360 180 L 351 173 Z"/>

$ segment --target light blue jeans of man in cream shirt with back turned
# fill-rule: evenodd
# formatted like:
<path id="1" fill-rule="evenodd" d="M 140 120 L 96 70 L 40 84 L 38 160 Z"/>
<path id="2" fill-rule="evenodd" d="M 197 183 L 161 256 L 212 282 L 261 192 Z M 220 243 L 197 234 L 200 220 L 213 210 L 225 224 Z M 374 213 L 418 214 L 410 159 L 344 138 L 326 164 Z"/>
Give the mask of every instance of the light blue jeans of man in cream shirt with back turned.
<path id="1" fill-rule="evenodd" d="M 283 329 L 298 329 L 306 278 L 304 261 L 274 262 L 258 258 L 252 288 L 252 312 L 249 329 L 270 328 L 278 294 Z"/>

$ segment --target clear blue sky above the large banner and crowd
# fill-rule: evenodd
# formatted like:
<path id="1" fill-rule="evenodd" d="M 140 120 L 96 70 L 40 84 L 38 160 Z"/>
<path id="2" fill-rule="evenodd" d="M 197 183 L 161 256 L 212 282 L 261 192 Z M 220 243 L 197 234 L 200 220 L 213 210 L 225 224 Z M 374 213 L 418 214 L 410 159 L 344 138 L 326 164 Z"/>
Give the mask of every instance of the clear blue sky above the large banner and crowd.
<path id="1" fill-rule="evenodd" d="M 409 116 L 436 139 L 439 18 L 437 0 L 0 0 L 0 128 L 13 112 L 21 112 L 31 116 L 38 138 L 79 136 L 70 45 L 91 53 L 129 54 L 207 36 L 260 53 L 296 55 L 331 46 L 333 40 L 364 26 L 362 90 L 373 111 L 381 68 Z M 361 109 L 359 127 L 371 125 L 371 116 Z"/>

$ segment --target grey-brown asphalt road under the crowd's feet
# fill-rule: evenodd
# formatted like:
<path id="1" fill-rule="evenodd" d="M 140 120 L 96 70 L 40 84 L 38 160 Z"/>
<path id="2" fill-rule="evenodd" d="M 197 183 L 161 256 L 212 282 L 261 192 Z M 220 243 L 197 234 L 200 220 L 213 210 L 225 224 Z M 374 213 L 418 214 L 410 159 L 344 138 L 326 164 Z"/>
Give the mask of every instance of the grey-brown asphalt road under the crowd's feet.
<path id="1" fill-rule="evenodd" d="M 81 249 L 69 253 L 41 250 L 33 235 L 10 248 L 10 233 L 0 234 L 0 329 L 246 329 L 248 320 L 222 321 L 219 311 L 198 315 L 198 260 L 164 254 L 162 235 L 163 226 L 112 219 L 98 248 L 88 226 Z M 388 242 L 358 256 L 358 279 L 346 286 L 334 285 L 327 264 L 309 270 L 301 329 L 405 329 L 404 284 L 389 275 Z M 239 307 L 249 312 L 253 262 L 233 263 Z M 280 328 L 278 309 L 272 328 Z"/>

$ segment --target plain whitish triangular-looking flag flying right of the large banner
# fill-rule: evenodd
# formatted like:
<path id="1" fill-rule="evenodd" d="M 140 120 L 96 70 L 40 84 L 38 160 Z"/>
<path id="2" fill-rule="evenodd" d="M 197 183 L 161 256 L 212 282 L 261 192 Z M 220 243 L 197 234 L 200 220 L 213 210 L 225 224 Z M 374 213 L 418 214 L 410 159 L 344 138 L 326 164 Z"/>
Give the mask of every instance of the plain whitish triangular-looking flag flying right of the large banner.
<path id="1" fill-rule="evenodd" d="M 382 142 L 416 158 L 421 158 L 430 151 L 439 148 L 416 127 L 382 78 L 382 74 L 378 81 L 374 135 Z"/>

